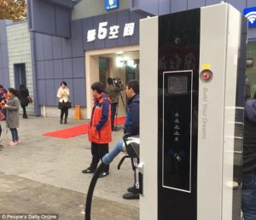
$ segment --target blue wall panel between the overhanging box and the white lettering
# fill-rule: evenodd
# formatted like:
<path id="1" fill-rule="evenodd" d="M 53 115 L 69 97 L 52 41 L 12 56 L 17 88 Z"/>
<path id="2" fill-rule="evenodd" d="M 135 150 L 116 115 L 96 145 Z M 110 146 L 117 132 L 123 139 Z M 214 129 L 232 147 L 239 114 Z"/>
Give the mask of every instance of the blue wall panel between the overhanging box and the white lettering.
<path id="1" fill-rule="evenodd" d="M 73 55 L 73 57 L 84 55 L 82 28 L 83 28 L 82 20 L 73 20 L 72 21 L 71 36 L 72 36 L 72 55 Z"/>

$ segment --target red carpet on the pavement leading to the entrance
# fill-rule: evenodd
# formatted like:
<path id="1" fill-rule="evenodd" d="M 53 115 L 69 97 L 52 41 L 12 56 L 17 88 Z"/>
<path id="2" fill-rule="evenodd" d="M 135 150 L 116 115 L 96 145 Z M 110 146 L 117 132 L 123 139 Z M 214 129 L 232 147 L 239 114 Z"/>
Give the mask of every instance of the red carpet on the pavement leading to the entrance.
<path id="1" fill-rule="evenodd" d="M 114 123 L 115 123 L 115 121 L 114 121 Z M 124 123 L 125 123 L 125 117 L 120 117 L 117 119 L 117 124 L 124 124 Z M 55 130 L 55 131 L 47 132 L 47 133 L 44 133 L 43 136 L 70 138 L 73 136 L 84 135 L 87 132 L 88 132 L 87 124 L 82 124 L 82 125 L 78 125 L 78 126 L 63 129 L 63 130 Z"/>

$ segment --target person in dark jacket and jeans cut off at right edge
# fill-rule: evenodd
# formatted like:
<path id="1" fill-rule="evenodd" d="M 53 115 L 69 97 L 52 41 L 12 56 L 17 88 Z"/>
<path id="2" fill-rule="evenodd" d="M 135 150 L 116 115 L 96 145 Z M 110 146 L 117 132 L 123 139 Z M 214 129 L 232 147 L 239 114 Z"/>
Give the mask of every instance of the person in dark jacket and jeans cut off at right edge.
<path id="1" fill-rule="evenodd" d="M 246 101 L 243 137 L 241 210 L 244 220 L 256 219 L 256 93 Z"/>

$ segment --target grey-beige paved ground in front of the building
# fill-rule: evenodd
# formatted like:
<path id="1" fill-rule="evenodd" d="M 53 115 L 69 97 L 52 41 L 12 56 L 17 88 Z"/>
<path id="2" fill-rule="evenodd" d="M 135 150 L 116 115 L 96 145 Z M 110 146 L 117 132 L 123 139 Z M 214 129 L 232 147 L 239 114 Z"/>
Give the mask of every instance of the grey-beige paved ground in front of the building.
<path id="1" fill-rule="evenodd" d="M 32 116 L 20 119 L 21 143 L 9 147 L 11 135 L 4 129 L 5 122 L 1 122 L 4 133 L 0 142 L 3 145 L 0 148 L 0 220 L 8 219 L 4 214 L 9 213 L 30 215 L 26 219 L 45 219 L 45 216 L 36 218 L 40 214 L 47 217 L 55 214 L 60 220 L 84 219 L 84 203 L 92 177 L 81 173 L 91 160 L 88 136 L 61 139 L 42 134 L 85 123 L 86 120 L 68 119 L 67 124 L 59 124 L 57 118 Z M 122 134 L 122 130 L 113 132 L 110 148 L 121 140 Z M 109 176 L 98 180 L 91 219 L 139 219 L 139 200 L 122 198 L 133 184 L 131 160 L 126 159 L 117 170 L 123 155 L 120 153 L 113 160 Z"/>

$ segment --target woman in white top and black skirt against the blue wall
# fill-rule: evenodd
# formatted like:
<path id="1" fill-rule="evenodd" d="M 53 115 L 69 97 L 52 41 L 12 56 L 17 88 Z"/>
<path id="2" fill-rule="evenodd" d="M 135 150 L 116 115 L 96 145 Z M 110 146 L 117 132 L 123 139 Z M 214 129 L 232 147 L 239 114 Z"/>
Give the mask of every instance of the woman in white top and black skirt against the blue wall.
<path id="1" fill-rule="evenodd" d="M 67 83 L 62 81 L 61 86 L 58 90 L 57 97 L 59 98 L 59 109 L 61 109 L 61 124 L 64 118 L 64 124 L 67 124 L 67 115 L 68 115 L 68 108 L 71 107 L 71 103 L 68 99 L 69 96 L 69 89 L 67 88 Z"/>

